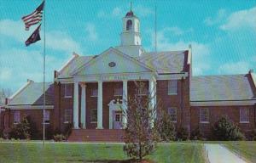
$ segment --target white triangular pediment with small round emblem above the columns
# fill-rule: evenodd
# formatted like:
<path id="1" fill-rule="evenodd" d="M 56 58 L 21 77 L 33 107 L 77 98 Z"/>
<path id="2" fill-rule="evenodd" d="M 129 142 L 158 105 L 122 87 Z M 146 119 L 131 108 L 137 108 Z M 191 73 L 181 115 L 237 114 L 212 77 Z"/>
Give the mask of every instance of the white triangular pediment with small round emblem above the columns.
<path id="1" fill-rule="evenodd" d="M 151 72 L 150 68 L 143 65 L 129 55 L 120 52 L 115 48 L 108 48 L 105 52 L 91 59 L 89 63 L 83 65 L 73 72 L 73 75 L 95 75 L 95 74 L 115 74 L 115 73 L 142 73 Z"/>

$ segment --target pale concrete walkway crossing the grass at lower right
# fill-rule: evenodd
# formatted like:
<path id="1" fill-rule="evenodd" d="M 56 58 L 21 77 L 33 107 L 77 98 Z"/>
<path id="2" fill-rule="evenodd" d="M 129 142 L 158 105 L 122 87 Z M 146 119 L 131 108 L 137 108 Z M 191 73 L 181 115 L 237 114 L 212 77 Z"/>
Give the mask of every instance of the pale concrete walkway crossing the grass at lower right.
<path id="1" fill-rule="evenodd" d="M 219 144 L 205 144 L 210 163 L 246 163 L 229 149 Z"/>

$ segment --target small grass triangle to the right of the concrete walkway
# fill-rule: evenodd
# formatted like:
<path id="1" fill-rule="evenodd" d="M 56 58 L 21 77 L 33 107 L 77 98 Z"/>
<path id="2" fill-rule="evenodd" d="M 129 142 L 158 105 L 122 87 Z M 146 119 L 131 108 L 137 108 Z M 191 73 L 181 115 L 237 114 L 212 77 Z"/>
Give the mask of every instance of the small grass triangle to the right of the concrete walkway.
<path id="1" fill-rule="evenodd" d="M 245 159 L 256 162 L 256 141 L 254 142 L 225 142 L 224 145 Z"/>

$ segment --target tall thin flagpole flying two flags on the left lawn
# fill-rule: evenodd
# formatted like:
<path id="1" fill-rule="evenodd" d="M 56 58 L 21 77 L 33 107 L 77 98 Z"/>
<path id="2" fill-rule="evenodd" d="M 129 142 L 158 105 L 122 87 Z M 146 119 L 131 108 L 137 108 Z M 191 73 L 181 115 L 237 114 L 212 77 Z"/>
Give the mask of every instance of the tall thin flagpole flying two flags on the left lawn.
<path id="1" fill-rule="evenodd" d="M 44 140 L 45 140 L 45 121 L 44 121 L 44 116 L 45 116 L 45 1 L 44 0 L 44 83 L 43 83 L 43 91 L 44 91 L 44 107 L 43 107 L 43 149 L 44 149 Z"/>

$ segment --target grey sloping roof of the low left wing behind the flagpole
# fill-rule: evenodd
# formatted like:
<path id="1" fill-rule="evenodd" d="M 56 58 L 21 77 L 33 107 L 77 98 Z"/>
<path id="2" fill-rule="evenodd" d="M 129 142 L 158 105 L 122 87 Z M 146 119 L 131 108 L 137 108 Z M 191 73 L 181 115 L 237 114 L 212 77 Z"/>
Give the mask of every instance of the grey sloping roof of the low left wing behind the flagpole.
<path id="1" fill-rule="evenodd" d="M 26 87 L 20 89 L 15 96 L 9 98 L 8 106 L 14 105 L 43 105 L 44 104 L 44 91 L 43 82 L 29 81 Z M 54 104 L 54 87 L 52 82 L 45 83 L 45 104 Z"/>

